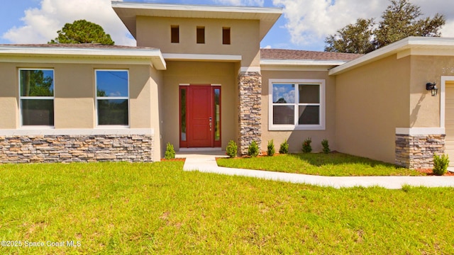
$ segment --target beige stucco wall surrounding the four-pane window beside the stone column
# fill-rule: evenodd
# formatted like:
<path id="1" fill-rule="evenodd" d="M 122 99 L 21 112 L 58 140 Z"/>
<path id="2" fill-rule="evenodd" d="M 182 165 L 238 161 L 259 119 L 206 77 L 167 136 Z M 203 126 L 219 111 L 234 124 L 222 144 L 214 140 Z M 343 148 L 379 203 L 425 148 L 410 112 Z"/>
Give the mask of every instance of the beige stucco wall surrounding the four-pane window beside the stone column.
<path id="1" fill-rule="evenodd" d="M 326 129 L 325 130 L 294 130 L 294 131 L 272 131 L 268 130 L 269 115 L 269 84 L 270 79 L 322 79 L 326 86 Z M 311 137 L 312 149 L 314 152 L 321 152 L 321 141 L 328 140 L 330 149 L 336 149 L 335 130 L 335 96 L 336 87 L 334 77 L 328 76 L 328 71 L 262 71 L 262 150 L 266 151 L 267 142 L 274 140 L 276 151 L 279 145 L 287 139 L 289 152 L 301 152 L 302 142 Z"/>

